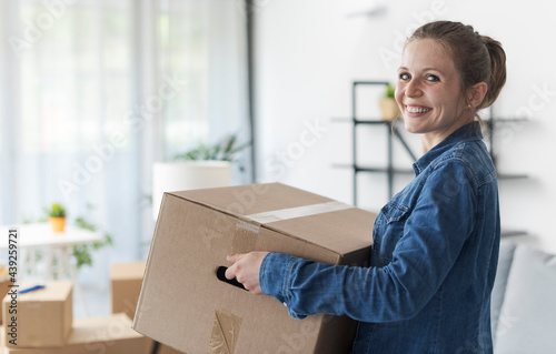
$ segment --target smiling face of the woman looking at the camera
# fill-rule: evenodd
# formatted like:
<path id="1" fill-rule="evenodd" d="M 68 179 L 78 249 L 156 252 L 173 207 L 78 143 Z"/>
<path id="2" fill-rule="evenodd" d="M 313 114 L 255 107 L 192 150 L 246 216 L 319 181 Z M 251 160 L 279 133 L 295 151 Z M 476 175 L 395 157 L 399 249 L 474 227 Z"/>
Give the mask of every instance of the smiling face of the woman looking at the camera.
<path id="1" fill-rule="evenodd" d="M 434 39 L 407 43 L 398 69 L 396 101 L 406 130 L 424 134 L 428 148 L 474 119 L 461 92 L 459 72 Z"/>

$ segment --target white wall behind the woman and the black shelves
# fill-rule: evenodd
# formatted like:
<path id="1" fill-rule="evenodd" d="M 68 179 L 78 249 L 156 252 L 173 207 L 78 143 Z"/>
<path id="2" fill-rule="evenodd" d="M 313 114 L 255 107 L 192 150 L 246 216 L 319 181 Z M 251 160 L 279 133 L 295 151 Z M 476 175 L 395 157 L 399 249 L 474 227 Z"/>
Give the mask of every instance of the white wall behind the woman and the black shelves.
<path id="1" fill-rule="evenodd" d="M 349 118 L 354 80 L 395 80 L 404 39 L 424 21 L 457 20 L 498 39 L 507 53 L 508 80 L 495 110 L 526 115 L 526 123 L 500 127 L 495 140 L 500 173 L 527 173 L 527 180 L 500 181 L 503 226 L 524 229 L 527 242 L 556 250 L 556 3 L 543 0 L 384 2 L 380 17 L 347 14 L 376 1 L 266 0 L 256 16 L 256 114 L 259 182 L 280 181 L 351 202 Z M 390 55 L 386 55 L 390 54 Z M 361 91 L 361 110 L 376 112 L 375 91 Z M 365 99 L 365 94 L 367 99 Z M 384 128 L 359 131 L 360 162 L 384 163 Z M 408 136 L 419 150 L 418 136 Z M 399 145 L 396 165 L 410 168 Z M 407 183 L 398 178 L 396 188 Z M 378 210 L 386 201 L 384 175 L 360 178 L 360 206 Z M 523 237 L 520 237 L 523 239 Z"/>

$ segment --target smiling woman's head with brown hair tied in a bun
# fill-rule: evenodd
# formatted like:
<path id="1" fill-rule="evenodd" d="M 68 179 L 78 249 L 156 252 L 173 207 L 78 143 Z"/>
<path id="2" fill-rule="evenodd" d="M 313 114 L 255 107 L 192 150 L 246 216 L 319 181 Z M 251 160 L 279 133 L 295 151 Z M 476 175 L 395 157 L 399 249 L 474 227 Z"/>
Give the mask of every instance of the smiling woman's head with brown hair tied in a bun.
<path id="1" fill-rule="evenodd" d="M 396 101 L 409 132 L 421 133 L 425 152 L 477 118 L 506 82 L 500 43 L 470 26 L 423 26 L 406 43 Z"/>

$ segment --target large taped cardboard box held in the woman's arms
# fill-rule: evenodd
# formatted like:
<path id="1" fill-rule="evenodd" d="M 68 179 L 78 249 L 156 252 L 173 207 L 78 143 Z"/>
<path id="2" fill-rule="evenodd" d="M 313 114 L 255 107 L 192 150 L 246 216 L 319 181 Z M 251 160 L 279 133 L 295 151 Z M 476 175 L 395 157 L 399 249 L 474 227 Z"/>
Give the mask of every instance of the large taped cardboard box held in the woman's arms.
<path id="1" fill-rule="evenodd" d="M 221 282 L 226 255 L 274 251 L 365 265 L 376 214 L 279 183 L 166 193 L 133 328 L 185 353 L 348 353 L 356 322 L 289 316 Z"/>

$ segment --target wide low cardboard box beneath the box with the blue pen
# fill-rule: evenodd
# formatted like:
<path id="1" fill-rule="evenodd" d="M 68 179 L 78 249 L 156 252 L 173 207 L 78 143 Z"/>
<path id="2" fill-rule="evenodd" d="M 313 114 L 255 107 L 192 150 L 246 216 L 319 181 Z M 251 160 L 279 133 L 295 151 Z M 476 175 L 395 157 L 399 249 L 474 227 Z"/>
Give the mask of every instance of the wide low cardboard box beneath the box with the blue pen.
<path id="1" fill-rule="evenodd" d="M 4 354 L 137 354 L 143 353 L 146 338 L 131 330 L 123 313 L 106 317 L 76 320 L 62 347 L 4 347 Z"/>

